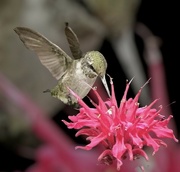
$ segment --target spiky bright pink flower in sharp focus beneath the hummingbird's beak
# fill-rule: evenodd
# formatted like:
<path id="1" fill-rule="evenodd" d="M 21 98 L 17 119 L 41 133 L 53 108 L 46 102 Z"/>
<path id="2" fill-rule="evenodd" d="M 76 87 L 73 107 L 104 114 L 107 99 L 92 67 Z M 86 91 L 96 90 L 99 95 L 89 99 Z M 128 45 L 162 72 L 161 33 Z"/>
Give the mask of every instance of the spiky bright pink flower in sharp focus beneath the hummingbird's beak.
<path id="1" fill-rule="evenodd" d="M 127 83 L 118 106 L 112 79 L 110 83 L 111 97 L 105 102 L 96 89 L 93 89 L 98 99 L 98 104 L 91 100 L 95 108 L 88 107 L 78 95 L 70 90 L 82 107 L 76 116 L 69 116 L 71 122 L 64 120 L 63 122 L 69 129 L 79 130 L 76 136 L 86 135 L 86 139 L 90 141 L 86 146 L 76 148 L 91 150 L 101 144 L 104 146 L 104 151 L 98 160 L 108 165 L 116 160 L 117 170 L 120 170 L 122 160 L 127 157 L 132 161 L 141 155 L 148 160 L 143 150 L 145 146 L 153 148 L 153 155 L 161 145 L 167 146 L 160 138 L 172 138 L 178 142 L 173 130 L 167 127 L 172 115 L 165 119 L 160 114 L 162 107 L 158 110 L 153 108 L 157 100 L 148 106 L 139 107 L 138 99 L 143 87 L 134 99 L 127 99 L 130 82 Z"/>

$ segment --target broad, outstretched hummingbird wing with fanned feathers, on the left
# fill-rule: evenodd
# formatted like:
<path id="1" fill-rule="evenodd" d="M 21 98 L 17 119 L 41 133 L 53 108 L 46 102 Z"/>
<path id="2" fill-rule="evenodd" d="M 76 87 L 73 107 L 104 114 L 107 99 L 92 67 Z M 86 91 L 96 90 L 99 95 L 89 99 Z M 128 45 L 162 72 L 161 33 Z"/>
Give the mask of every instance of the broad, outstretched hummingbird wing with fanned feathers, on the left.
<path id="1" fill-rule="evenodd" d="M 16 27 L 14 31 L 19 35 L 24 45 L 34 51 L 41 63 L 59 80 L 73 59 L 38 32 L 25 27 Z"/>

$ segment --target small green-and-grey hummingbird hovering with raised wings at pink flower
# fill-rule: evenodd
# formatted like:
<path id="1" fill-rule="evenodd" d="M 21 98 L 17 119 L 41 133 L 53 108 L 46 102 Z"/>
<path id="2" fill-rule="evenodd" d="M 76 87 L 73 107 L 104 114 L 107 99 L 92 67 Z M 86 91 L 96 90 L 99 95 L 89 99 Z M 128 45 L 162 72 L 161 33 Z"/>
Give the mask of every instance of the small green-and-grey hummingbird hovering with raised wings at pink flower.
<path id="1" fill-rule="evenodd" d="M 14 31 L 24 45 L 37 54 L 42 65 L 58 81 L 54 88 L 44 92 L 50 92 L 52 97 L 61 100 L 64 104 L 76 105 L 77 98 L 70 93 L 70 90 L 83 99 L 91 90 L 96 79 L 100 77 L 110 96 L 105 78 L 107 69 L 105 57 L 99 51 L 82 53 L 78 37 L 68 23 L 65 25 L 65 35 L 72 57 L 45 36 L 30 28 L 16 27 Z"/>

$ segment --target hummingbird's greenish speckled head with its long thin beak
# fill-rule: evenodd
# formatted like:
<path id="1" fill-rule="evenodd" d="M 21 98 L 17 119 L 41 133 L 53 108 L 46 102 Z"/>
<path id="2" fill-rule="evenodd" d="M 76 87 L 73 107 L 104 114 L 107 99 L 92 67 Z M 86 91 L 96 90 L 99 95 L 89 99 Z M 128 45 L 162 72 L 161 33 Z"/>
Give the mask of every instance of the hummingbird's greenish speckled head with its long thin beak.
<path id="1" fill-rule="evenodd" d="M 85 58 L 87 59 L 87 63 L 89 64 L 91 69 L 101 78 L 101 81 L 107 91 L 107 94 L 110 97 L 110 92 L 105 78 L 107 69 L 106 59 L 99 51 L 87 52 Z"/>

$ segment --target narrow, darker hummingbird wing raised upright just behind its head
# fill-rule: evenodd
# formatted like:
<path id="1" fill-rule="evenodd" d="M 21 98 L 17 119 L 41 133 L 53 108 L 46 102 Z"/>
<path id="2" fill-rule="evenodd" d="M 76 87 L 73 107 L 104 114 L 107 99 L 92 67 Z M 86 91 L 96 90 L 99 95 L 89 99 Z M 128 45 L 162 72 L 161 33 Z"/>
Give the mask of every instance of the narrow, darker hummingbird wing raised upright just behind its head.
<path id="1" fill-rule="evenodd" d="M 82 57 L 82 51 L 80 49 L 79 40 L 77 35 L 69 27 L 68 23 L 66 23 L 65 34 L 74 59 L 80 59 Z"/>

